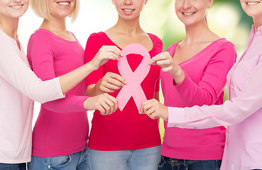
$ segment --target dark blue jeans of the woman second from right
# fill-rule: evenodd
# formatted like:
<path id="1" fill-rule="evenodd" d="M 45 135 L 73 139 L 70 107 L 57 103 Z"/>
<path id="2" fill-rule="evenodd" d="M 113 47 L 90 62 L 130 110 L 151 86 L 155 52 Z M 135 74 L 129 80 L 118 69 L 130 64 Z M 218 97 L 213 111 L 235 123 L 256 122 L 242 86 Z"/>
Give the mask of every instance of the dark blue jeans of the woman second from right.
<path id="1" fill-rule="evenodd" d="M 161 157 L 158 170 L 219 170 L 222 160 L 186 160 Z"/>

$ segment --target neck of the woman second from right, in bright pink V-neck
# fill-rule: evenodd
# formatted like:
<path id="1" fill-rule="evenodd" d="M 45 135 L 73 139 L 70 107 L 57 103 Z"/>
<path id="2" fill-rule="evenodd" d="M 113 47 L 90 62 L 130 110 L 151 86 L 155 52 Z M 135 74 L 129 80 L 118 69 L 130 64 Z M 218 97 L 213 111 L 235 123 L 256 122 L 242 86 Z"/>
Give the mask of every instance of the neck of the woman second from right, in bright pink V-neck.
<path id="1" fill-rule="evenodd" d="M 194 26 L 185 26 L 185 33 L 186 38 L 185 42 L 192 43 L 192 42 L 203 42 L 208 40 L 207 35 L 209 33 L 212 33 L 211 30 L 209 30 L 207 23 L 203 21 L 202 23 L 198 23 Z"/>

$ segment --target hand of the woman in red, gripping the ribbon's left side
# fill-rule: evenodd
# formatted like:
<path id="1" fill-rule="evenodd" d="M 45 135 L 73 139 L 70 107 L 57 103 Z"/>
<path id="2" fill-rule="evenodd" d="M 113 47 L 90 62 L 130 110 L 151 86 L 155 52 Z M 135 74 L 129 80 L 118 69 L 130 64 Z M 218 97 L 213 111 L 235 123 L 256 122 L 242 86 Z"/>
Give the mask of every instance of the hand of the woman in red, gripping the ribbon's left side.
<path id="1" fill-rule="evenodd" d="M 126 84 L 126 80 L 119 74 L 107 72 L 107 74 L 97 82 L 96 88 L 101 92 L 114 93 L 114 91 L 121 89 L 124 84 Z"/>

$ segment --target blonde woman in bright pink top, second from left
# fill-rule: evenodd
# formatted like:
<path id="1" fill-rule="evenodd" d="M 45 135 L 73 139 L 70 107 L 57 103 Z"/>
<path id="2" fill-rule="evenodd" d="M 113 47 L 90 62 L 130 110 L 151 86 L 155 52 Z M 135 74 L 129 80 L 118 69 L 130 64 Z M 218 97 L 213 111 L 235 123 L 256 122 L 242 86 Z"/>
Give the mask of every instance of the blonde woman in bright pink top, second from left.
<path id="1" fill-rule="evenodd" d="M 53 79 L 84 64 L 83 47 L 65 27 L 67 16 L 76 17 L 79 1 L 32 0 L 31 6 L 43 18 L 28 42 L 27 57 L 36 75 L 44 80 Z M 111 46 L 102 47 L 100 52 L 115 59 L 121 55 L 119 49 Z M 116 98 L 108 94 L 94 98 L 85 94 L 81 81 L 65 98 L 41 105 L 33 129 L 33 156 L 28 169 L 88 169 L 86 110 L 110 114 L 118 106 Z"/>

